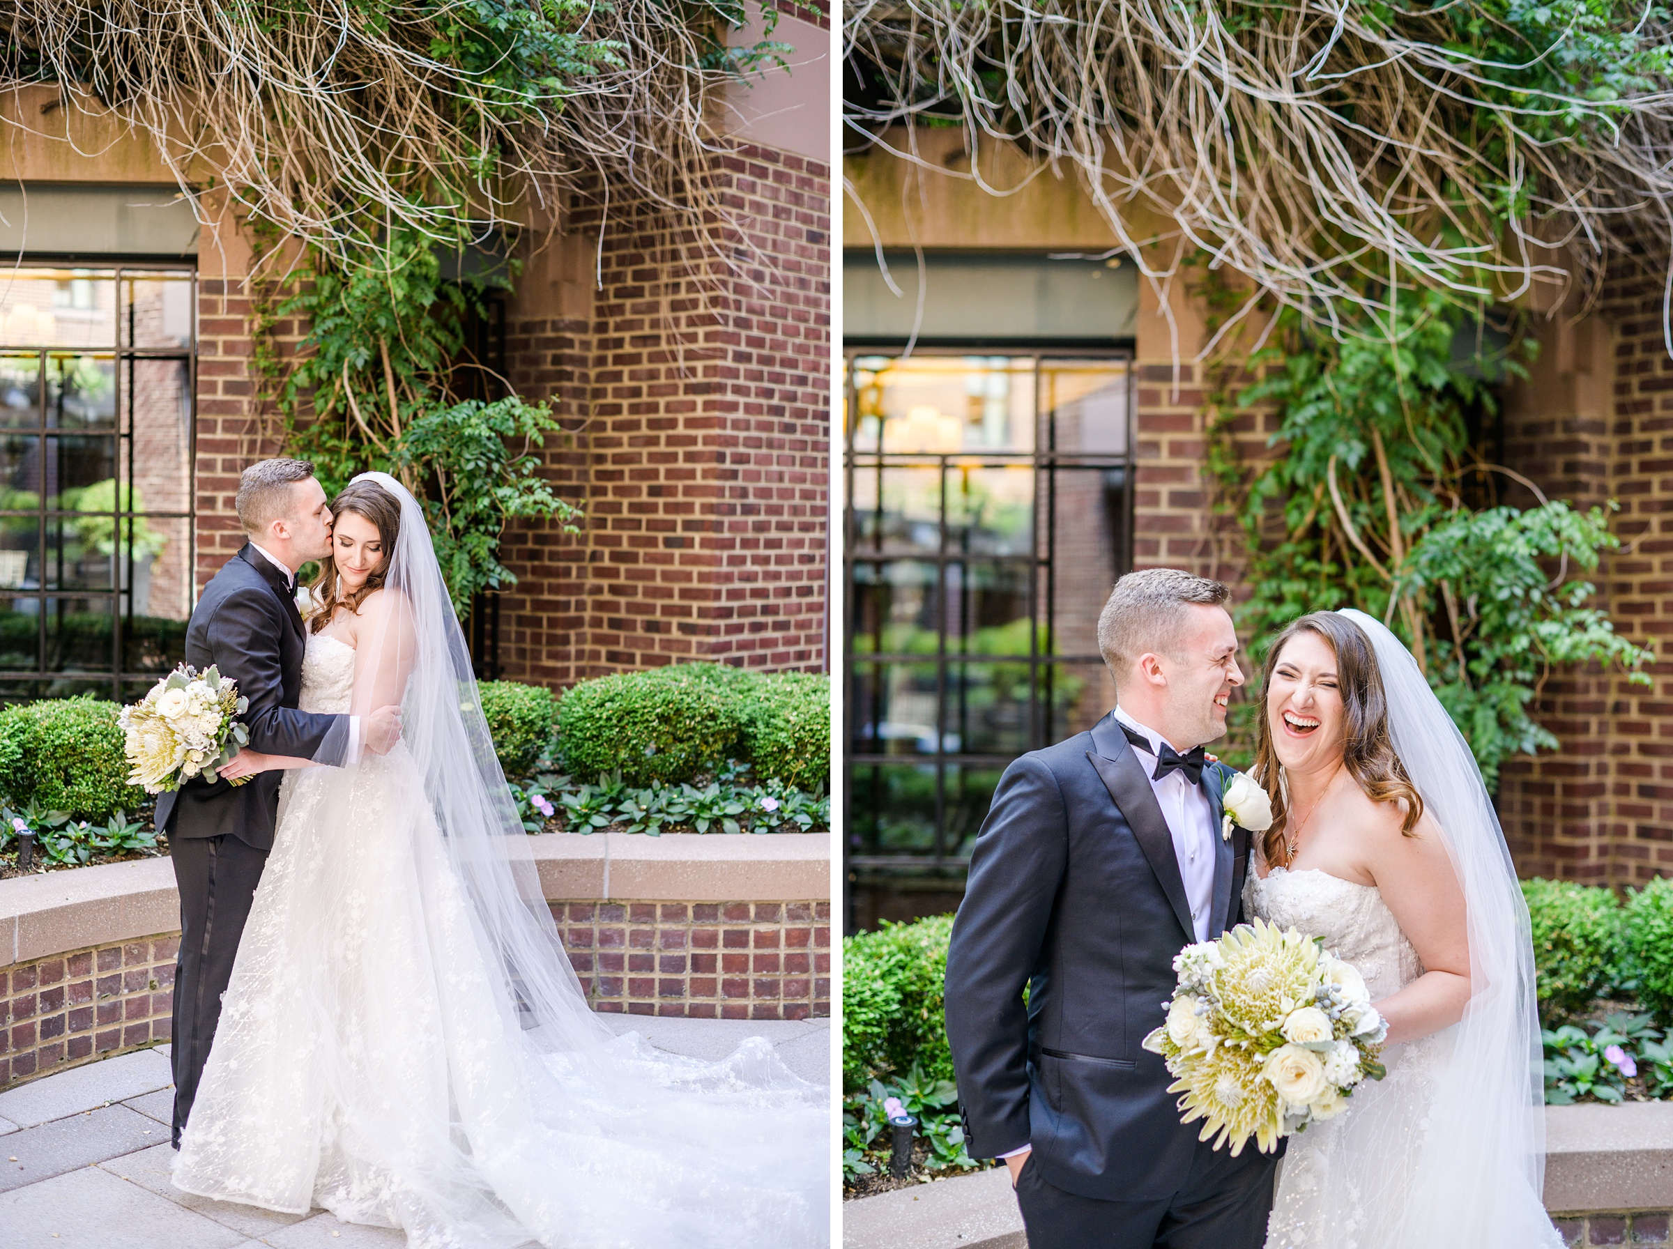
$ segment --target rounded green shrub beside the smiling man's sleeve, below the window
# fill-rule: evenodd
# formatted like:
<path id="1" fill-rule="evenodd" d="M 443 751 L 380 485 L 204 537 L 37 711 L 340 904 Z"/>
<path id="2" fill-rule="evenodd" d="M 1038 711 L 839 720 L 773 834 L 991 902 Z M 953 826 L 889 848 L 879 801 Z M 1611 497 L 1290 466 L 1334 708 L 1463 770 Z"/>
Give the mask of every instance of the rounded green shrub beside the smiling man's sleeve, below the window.
<path id="1" fill-rule="evenodd" d="M 952 1078 L 942 998 L 952 916 L 883 921 L 842 943 L 842 1072 L 847 1090 L 898 1078 L 913 1063 L 927 1080 Z"/>

